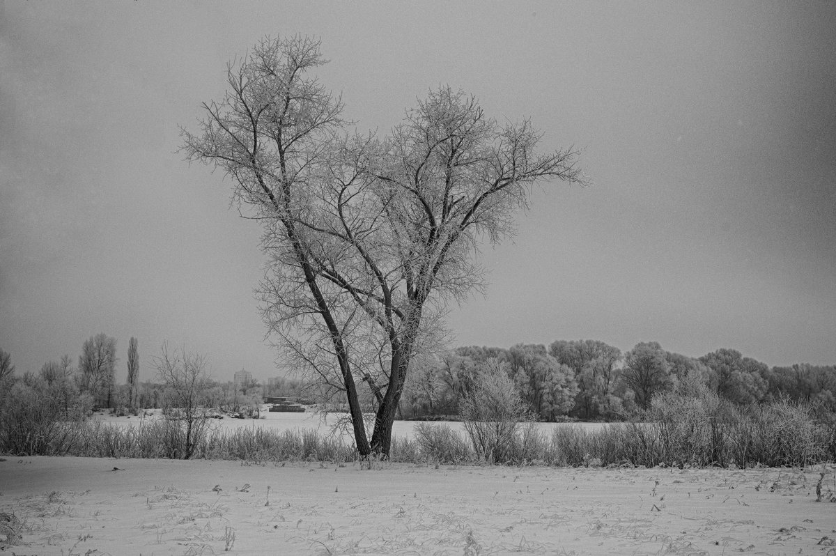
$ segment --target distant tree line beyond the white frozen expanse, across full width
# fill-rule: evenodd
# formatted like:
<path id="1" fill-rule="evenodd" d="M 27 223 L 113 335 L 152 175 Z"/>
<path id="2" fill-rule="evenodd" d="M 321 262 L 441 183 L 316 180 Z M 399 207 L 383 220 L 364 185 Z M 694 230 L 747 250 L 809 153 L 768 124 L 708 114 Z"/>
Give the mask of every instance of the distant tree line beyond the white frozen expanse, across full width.
<path id="1" fill-rule="evenodd" d="M 0 349 L 0 395 L 15 384 L 47 396 L 64 418 L 109 408 L 120 414 L 139 408 L 176 405 L 178 392 L 157 369 L 156 380 L 140 381 L 139 347 L 128 346 L 127 382 L 115 383 L 116 339 L 91 336 L 78 366 L 69 355 L 48 361 L 39 373 L 14 375 L 11 355 Z M 401 419 L 457 418 L 463 400 L 477 393 L 484 370 L 501 365 L 530 416 L 539 421 L 619 421 L 650 408 L 657 395 L 700 397 L 706 392 L 726 404 L 754 406 L 775 400 L 803 401 L 836 411 L 836 365 L 768 365 L 736 349 L 701 357 L 666 351 L 641 342 L 622 353 L 599 340 L 556 340 L 511 348 L 466 346 L 413 362 L 399 407 Z M 152 365 L 159 367 L 160 365 Z M 324 401 L 324 390 L 304 380 L 280 378 L 269 387 L 257 380 L 238 385 L 205 375 L 201 365 L 201 406 L 237 411 L 257 407 L 266 395 Z M 19 392 L 18 392 L 19 394 Z M 374 400 L 367 400 L 372 403 Z"/>

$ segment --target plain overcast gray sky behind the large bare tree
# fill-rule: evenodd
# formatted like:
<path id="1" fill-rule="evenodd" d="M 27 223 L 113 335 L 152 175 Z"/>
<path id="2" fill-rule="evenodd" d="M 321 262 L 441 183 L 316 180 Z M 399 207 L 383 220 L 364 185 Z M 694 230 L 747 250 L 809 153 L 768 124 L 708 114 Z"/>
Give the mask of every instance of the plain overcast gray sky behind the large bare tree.
<path id="1" fill-rule="evenodd" d="M 104 332 L 273 375 L 257 223 L 176 153 L 227 61 L 322 38 L 359 129 L 438 84 L 576 145 L 449 318 L 453 345 L 655 340 L 836 363 L 836 3 L 0 4 L 0 348 L 38 370 Z M 145 377 L 144 379 L 142 377 Z"/>

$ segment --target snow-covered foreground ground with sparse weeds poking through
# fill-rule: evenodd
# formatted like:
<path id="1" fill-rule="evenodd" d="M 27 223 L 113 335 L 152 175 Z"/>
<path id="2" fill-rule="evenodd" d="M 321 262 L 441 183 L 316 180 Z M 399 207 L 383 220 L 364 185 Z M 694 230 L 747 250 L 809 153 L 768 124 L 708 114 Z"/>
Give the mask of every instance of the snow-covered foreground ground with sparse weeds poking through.
<path id="1" fill-rule="evenodd" d="M 833 554 L 820 468 L 452 467 L 6 457 L 7 553 Z M 833 489 L 833 466 L 825 489 Z M 11 516 L 11 517 L 9 517 Z M 4 546 L 5 544 L 5 546 Z"/>

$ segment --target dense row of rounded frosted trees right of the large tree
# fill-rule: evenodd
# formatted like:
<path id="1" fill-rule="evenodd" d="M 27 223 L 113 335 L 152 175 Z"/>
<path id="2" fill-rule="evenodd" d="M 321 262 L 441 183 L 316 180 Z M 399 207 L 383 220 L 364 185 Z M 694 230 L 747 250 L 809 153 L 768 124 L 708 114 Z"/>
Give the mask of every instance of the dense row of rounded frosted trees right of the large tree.
<path id="1" fill-rule="evenodd" d="M 541 421 L 617 420 L 669 391 L 695 397 L 711 391 L 737 406 L 788 398 L 836 410 L 836 366 L 770 368 L 735 349 L 691 358 L 656 342 L 622 354 L 599 340 L 558 340 L 548 347 L 461 347 L 421 360 L 407 383 L 401 416 L 458 415 L 491 361 L 504 365 L 528 411 Z"/>

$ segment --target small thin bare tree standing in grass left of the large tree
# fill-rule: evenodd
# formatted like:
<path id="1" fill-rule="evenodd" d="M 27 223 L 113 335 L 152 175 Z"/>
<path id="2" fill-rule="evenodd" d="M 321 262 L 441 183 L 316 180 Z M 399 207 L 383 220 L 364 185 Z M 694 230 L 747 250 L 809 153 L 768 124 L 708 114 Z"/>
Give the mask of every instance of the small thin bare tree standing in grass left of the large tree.
<path id="1" fill-rule="evenodd" d="M 166 451 L 172 459 L 189 459 L 209 428 L 206 393 L 210 381 L 206 359 L 185 348 L 169 350 L 163 344 L 154 358 L 157 377 L 165 385 L 163 410 L 166 413 Z"/>

